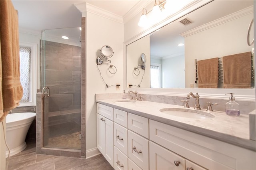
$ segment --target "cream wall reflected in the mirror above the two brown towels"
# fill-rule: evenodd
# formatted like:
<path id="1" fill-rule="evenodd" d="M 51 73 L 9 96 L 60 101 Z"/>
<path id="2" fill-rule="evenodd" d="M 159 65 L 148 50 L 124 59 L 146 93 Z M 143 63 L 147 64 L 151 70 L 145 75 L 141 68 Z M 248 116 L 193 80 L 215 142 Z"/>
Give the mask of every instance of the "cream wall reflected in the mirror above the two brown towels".
<path id="1" fill-rule="evenodd" d="M 247 45 L 248 25 L 252 18 L 253 14 L 248 14 L 185 37 L 186 88 L 195 81 L 194 59 L 223 57 L 252 51 L 252 46 Z"/>

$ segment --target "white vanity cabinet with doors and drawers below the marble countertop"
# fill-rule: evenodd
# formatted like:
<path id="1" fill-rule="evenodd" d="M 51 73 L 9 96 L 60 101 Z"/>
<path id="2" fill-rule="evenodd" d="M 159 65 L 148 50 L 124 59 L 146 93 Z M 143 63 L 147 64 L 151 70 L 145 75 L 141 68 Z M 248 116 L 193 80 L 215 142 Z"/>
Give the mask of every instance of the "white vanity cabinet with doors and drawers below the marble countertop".
<path id="1" fill-rule="evenodd" d="M 99 103 L 97 148 L 118 170 L 256 169 L 255 151 Z"/>

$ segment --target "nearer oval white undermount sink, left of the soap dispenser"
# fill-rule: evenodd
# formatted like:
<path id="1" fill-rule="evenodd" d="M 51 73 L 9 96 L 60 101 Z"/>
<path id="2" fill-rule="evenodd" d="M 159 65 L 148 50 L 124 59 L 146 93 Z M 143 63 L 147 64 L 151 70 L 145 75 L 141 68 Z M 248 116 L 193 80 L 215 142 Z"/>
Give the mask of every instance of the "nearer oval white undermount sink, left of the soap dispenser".
<path id="1" fill-rule="evenodd" d="M 164 108 L 160 109 L 160 112 L 177 116 L 177 117 L 186 117 L 186 118 L 193 118 L 193 119 L 209 119 L 214 118 L 215 116 L 212 113 L 201 111 L 201 110 L 192 110 L 192 109 L 185 109 L 185 108 Z"/>

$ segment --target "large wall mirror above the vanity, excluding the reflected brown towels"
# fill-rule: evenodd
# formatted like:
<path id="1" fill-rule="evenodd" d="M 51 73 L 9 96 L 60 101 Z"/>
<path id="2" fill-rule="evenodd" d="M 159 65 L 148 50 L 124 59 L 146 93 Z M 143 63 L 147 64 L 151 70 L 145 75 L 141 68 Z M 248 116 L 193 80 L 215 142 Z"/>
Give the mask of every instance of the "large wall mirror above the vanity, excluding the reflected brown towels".
<path id="1" fill-rule="evenodd" d="M 195 59 L 252 51 L 253 46 L 247 45 L 252 19 L 252 0 L 214 0 L 128 44 L 127 87 L 198 88 Z M 141 53 L 147 57 L 146 68 L 138 67 L 140 74 L 134 75 Z"/>

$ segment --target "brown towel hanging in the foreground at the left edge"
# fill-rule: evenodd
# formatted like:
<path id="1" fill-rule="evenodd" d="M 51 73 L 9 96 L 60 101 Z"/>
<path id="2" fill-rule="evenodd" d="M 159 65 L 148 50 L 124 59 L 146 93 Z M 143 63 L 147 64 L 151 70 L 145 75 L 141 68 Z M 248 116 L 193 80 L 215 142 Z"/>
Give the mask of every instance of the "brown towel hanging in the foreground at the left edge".
<path id="1" fill-rule="evenodd" d="M 0 0 L 0 44 L 2 86 L 0 121 L 19 105 L 23 95 L 20 83 L 18 14 L 11 0 Z"/>

